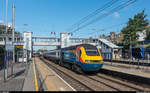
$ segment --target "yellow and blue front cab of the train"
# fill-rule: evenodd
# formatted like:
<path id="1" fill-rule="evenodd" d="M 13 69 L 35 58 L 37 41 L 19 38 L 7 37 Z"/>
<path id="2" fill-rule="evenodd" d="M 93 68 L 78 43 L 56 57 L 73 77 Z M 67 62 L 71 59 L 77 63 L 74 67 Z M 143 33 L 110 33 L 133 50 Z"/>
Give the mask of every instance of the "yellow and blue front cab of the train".
<path id="1" fill-rule="evenodd" d="M 95 49 L 85 49 L 84 47 L 77 48 L 79 52 L 80 66 L 83 71 L 99 71 L 103 66 L 103 58 L 101 56 L 100 50 L 95 47 Z"/>

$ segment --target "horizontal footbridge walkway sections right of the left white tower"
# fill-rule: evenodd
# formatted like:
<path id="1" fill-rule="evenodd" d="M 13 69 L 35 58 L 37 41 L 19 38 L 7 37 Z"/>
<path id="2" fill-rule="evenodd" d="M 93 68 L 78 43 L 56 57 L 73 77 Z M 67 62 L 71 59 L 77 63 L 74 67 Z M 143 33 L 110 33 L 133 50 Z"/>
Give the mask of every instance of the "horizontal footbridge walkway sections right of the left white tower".
<path id="1" fill-rule="evenodd" d="M 61 44 L 65 42 L 67 43 L 67 46 L 90 43 L 88 38 L 69 38 L 69 40 L 66 39 L 66 41 L 64 42 L 61 40 L 63 40 L 63 38 L 48 37 L 48 36 L 32 37 L 33 46 L 61 46 Z"/>

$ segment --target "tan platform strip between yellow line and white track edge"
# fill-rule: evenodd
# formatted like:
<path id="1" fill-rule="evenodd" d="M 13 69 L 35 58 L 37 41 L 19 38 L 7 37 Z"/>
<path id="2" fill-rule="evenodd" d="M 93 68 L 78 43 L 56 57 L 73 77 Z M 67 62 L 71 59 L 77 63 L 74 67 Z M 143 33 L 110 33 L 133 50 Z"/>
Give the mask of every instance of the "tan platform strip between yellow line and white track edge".
<path id="1" fill-rule="evenodd" d="M 35 58 L 35 64 L 43 78 L 43 84 L 46 85 L 47 91 L 75 91 L 39 58 Z"/>

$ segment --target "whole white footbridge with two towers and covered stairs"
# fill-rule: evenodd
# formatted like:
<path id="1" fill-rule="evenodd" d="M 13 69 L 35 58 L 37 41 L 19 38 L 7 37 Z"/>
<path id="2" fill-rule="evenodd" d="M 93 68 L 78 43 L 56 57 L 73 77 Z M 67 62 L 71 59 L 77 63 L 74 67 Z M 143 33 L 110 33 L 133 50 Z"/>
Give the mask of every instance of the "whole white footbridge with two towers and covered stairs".
<path id="1" fill-rule="evenodd" d="M 14 45 L 23 46 L 24 55 L 28 54 L 29 58 L 32 58 L 33 46 L 57 46 L 57 48 L 64 48 L 78 44 L 92 44 L 103 49 L 105 54 L 110 53 L 110 55 L 120 49 L 120 47 L 104 39 L 73 38 L 69 33 L 61 33 L 59 38 L 50 36 L 32 36 L 32 32 L 24 32 L 23 35 L 23 39 L 15 41 Z M 9 41 L 9 43 L 12 44 L 12 41 Z M 0 41 L 0 45 L 5 45 L 4 39 L 3 41 Z"/>

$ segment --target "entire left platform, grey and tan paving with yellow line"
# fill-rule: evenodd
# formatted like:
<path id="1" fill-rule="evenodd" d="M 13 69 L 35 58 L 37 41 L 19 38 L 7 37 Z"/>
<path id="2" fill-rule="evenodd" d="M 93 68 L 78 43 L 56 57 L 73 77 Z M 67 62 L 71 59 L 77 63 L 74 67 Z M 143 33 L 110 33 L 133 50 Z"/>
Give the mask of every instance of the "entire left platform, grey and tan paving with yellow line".
<path id="1" fill-rule="evenodd" d="M 28 63 L 14 63 L 14 74 L 8 67 L 4 82 L 4 70 L 0 71 L 0 91 L 75 91 L 67 82 L 39 58 Z"/>

